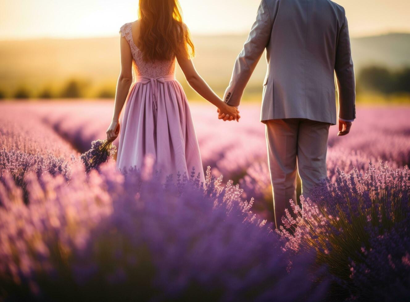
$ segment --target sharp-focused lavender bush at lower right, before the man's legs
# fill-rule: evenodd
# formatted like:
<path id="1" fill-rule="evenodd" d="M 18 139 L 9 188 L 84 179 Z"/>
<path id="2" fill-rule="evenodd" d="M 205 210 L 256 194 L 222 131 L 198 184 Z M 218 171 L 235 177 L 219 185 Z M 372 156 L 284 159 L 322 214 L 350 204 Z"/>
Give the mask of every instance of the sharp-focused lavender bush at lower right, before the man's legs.
<path id="1" fill-rule="evenodd" d="M 350 174 L 339 170 L 335 183 L 328 179 L 312 191 L 314 201 L 302 197 L 302 208 L 292 203 L 297 218 L 287 212 L 282 218 L 285 228 L 278 231 L 286 242 L 284 249 L 317 251 L 317 263 L 327 263 L 335 280 L 353 297 L 368 299 L 371 288 L 394 288 L 394 282 L 380 282 L 377 272 L 383 265 L 393 268 L 392 255 L 406 259 L 409 192 L 407 167 L 394 170 L 383 163 L 378 168 L 370 164 L 364 175 L 357 170 Z M 410 267 L 405 260 L 396 268 L 404 272 L 384 270 L 383 276 L 408 282 Z M 405 274 L 406 279 L 401 279 Z M 379 283 L 366 283 L 372 279 Z"/>

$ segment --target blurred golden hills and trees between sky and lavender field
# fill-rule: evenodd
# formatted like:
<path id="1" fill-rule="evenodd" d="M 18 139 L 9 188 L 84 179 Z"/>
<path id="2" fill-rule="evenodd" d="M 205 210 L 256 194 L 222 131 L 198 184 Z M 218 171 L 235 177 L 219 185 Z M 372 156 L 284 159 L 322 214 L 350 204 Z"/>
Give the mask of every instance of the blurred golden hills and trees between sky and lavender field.
<path id="1" fill-rule="evenodd" d="M 246 34 L 194 35 L 194 63 L 200 75 L 223 95 Z M 358 102 L 410 104 L 410 34 L 352 39 Z M 0 41 L 0 98 L 105 98 L 115 94 L 120 68 L 119 35 L 87 39 Z M 266 61 L 260 60 L 245 101 L 260 101 Z M 189 100 L 200 97 L 177 78 Z"/>

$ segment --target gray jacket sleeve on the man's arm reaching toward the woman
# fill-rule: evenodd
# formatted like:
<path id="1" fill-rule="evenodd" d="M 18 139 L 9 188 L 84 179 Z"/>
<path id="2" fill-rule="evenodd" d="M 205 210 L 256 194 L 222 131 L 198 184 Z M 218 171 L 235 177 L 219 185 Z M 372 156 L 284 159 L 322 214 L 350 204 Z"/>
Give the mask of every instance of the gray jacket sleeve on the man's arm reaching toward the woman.
<path id="1" fill-rule="evenodd" d="M 262 0 L 248 39 L 235 61 L 232 77 L 224 95 L 224 101 L 227 104 L 239 106 L 246 84 L 248 84 L 257 62 L 269 43 L 271 30 L 269 9 L 265 0 Z"/>

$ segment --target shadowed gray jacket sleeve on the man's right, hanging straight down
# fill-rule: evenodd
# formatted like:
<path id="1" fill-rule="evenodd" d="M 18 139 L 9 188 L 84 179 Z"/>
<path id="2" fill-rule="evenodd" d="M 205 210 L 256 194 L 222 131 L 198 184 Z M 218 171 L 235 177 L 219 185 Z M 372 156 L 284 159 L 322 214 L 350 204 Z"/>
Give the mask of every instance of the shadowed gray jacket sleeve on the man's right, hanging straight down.
<path id="1" fill-rule="evenodd" d="M 356 118 L 356 83 L 346 15 L 339 32 L 335 73 L 339 91 L 339 118 L 354 120 Z"/>

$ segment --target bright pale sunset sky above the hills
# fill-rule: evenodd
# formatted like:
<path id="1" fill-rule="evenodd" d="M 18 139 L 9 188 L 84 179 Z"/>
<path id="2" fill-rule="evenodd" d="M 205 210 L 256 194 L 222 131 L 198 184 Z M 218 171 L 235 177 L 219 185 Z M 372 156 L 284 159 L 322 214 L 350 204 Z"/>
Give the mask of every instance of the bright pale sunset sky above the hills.
<path id="1" fill-rule="evenodd" d="M 180 0 L 194 34 L 247 32 L 260 0 Z M 410 32 L 409 0 L 339 0 L 352 36 Z M 112 36 L 138 0 L 0 0 L 0 39 Z"/>

